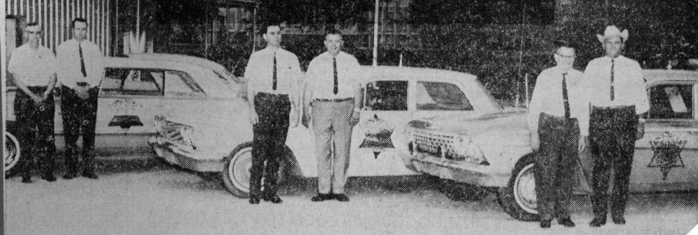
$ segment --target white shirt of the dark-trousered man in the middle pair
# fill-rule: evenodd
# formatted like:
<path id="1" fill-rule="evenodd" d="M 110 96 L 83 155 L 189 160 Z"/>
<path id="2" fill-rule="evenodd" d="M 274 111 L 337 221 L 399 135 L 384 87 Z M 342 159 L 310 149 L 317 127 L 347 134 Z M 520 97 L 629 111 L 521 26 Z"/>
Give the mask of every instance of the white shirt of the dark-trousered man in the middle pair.
<path id="1" fill-rule="evenodd" d="M 274 55 L 276 54 L 276 90 L 274 83 Z M 256 92 L 297 96 L 302 77 L 298 57 L 283 48 L 271 48 L 252 53 L 245 68 L 248 89 Z"/>

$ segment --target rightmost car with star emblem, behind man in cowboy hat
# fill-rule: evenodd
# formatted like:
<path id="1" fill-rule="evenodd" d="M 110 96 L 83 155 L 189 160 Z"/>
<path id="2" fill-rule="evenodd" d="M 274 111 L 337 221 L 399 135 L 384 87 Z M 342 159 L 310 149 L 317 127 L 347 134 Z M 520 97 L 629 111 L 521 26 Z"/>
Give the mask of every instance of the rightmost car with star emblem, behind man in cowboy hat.
<path id="1" fill-rule="evenodd" d="M 698 189 L 698 71 L 644 70 L 651 109 L 635 146 L 630 190 Z M 500 109 L 479 116 L 448 115 L 409 123 L 407 166 L 482 198 L 496 192 L 505 212 L 537 220 L 533 153 L 526 112 Z M 577 190 L 589 192 L 589 151 L 581 154 Z M 473 196 L 471 196 L 473 197 Z"/>

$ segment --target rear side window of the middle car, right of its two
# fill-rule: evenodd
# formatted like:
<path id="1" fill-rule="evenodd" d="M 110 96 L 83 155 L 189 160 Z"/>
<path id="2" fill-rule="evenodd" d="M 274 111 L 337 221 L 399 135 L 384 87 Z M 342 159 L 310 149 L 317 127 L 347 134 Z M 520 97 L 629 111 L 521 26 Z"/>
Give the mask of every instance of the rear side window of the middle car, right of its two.
<path id="1" fill-rule="evenodd" d="M 417 82 L 415 99 L 417 110 L 473 110 L 466 94 L 456 84 L 447 82 Z"/>

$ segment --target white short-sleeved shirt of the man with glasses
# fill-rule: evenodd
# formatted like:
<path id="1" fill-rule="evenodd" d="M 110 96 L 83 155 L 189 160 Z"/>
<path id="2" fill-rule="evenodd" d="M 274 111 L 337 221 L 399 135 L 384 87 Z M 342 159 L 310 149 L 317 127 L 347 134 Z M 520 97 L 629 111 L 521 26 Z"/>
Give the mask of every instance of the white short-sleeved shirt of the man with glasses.
<path id="1" fill-rule="evenodd" d="M 543 70 L 535 81 L 533 96 L 528 106 L 528 128 L 538 132 L 538 118 L 544 112 L 553 116 L 565 116 L 563 100 L 563 73 L 567 83 L 567 100 L 570 103 L 570 118 L 579 122 L 579 134 L 586 136 L 589 130 L 589 105 L 586 98 L 584 75 L 574 68 L 564 71 L 556 66 Z"/>

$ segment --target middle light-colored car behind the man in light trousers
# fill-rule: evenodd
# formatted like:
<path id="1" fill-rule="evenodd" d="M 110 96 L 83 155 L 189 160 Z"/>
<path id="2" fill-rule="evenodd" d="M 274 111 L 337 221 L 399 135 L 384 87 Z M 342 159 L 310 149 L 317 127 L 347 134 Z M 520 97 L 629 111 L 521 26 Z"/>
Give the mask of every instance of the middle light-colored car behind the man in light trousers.
<path id="1" fill-rule="evenodd" d="M 410 120 L 500 109 L 473 75 L 428 68 L 363 68 L 369 77 L 352 134 L 350 176 L 416 174 L 399 154 L 408 151 L 405 127 Z M 196 172 L 221 172 L 229 192 L 248 197 L 252 126 L 246 100 L 202 100 L 188 107 L 188 112 L 157 118 L 158 135 L 151 139 L 157 155 Z M 296 114 L 299 119 L 301 114 Z M 291 125 L 280 174 L 315 177 L 313 129 Z"/>

